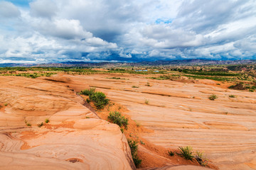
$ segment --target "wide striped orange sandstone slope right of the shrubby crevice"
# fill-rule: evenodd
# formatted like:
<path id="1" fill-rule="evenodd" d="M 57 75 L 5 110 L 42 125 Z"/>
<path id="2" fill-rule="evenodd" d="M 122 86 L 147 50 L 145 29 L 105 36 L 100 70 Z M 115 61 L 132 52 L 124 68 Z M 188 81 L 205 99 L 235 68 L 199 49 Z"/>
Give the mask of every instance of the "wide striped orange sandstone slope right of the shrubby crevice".
<path id="1" fill-rule="evenodd" d="M 256 169 L 255 93 L 221 88 L 210 80 L 188 84 L 122 74 L 63 75 L 63 79 L 70 79 L 75 91 L 97 87 L 126 106 L 126 114 L 154 130 L 144 137 L 155 145 L 191 146 L 220 169 Z M 218 98 L 210 101 L 211 94 Z"/>

